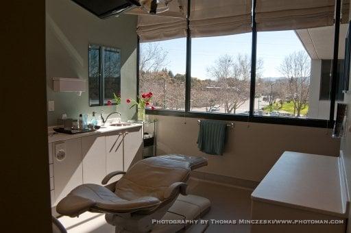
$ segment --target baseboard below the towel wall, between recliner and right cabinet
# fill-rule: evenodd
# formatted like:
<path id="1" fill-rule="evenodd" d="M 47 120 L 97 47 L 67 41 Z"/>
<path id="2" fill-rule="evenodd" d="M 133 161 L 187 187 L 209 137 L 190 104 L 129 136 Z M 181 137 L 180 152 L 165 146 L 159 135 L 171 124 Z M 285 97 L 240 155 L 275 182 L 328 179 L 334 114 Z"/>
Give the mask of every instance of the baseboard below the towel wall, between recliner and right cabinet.
<path id="1" fill-rule="evenodd" d="M 208 182 L 216 182 L 219 184 L 226 184 L 230 186 L 238 186 L 241 188 L 248 188 L 254 190 L 260 182 L 245 180 L 236 177 L 229 177 L 226 175 L 217 175 L 213 173 L 204 173 L 202 171 L 191 171 L 191 177 Z"/>

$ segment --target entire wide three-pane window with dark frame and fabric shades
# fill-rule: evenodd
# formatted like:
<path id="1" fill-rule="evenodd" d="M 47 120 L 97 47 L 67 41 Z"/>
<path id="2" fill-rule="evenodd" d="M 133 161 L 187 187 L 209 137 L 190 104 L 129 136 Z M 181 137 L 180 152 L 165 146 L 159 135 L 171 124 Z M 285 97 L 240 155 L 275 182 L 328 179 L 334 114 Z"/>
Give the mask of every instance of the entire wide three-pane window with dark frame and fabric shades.
<path id="1" fill-rule="evenodd" d="M 161 40 L 140 44 L 139 93 L 155 93 L 158 109 L 149 113 L 332 125 L 348 26 L 346 14 L 339 25 L 340 3 L 192 1 L 186 24 L 156 17 L 138 25 L 141 41 Z M 173 32 L 187 38 L 169 39 Z"/>

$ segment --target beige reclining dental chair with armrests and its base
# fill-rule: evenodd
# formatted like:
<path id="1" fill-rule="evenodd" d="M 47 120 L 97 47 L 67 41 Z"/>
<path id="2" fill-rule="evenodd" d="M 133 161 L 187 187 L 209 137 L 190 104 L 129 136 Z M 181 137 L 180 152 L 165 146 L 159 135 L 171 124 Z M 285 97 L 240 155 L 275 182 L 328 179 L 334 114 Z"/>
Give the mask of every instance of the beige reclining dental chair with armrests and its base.
<path id="1" fill-rule="evenodd" d="M 190 171 L 207 165 L 201 157 L 168 155 L 136 162 L 127 173 L 106 175 L 102 184 L 123 174 L 112 188 L 82 184 L 56 207 L 59 214 L 77 217 L 82 212 L 106 213 L 116 232 L 178 232 L 189 228 L 188 220 L 202 217 L 210 208 L 204 197 L 186 195 Z M 178 224 L 160 224 L 176 220 Z M 158 224 L 157 224 L 158 223 Z M 197 225 L 206 229 L 204 225 Z"/>

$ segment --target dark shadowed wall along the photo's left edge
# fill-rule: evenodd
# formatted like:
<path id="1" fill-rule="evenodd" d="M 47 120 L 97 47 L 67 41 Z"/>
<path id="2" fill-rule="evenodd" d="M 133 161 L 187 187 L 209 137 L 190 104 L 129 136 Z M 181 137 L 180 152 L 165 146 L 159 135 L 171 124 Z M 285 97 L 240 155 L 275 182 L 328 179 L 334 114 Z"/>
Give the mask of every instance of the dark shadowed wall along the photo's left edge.
<path id="1" fill-rule="evenodd" d="M 3 1 L 0 12 L 0 231 L 48 233 L 45 0 Z"/>

